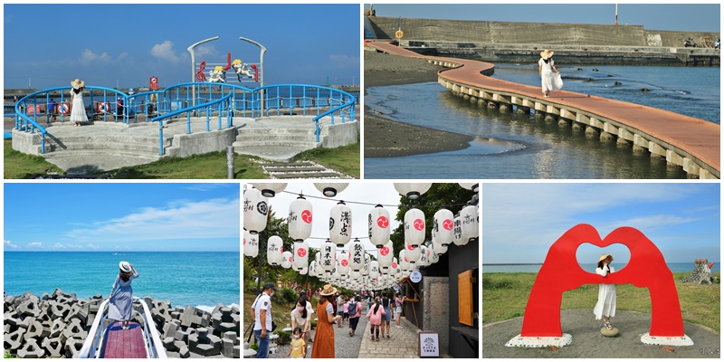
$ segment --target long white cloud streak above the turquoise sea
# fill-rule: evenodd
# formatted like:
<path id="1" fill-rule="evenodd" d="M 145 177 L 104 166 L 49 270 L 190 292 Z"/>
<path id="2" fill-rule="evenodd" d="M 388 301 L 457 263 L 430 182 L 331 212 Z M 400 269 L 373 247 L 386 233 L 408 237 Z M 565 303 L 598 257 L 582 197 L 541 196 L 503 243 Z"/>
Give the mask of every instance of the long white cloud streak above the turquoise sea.
<path id="1" fill-rule="evenodd" d="M 240 214 L 238 198 L 176 202 L 73 229 L 65 236 L 79 243 L 239 238 Z"/>

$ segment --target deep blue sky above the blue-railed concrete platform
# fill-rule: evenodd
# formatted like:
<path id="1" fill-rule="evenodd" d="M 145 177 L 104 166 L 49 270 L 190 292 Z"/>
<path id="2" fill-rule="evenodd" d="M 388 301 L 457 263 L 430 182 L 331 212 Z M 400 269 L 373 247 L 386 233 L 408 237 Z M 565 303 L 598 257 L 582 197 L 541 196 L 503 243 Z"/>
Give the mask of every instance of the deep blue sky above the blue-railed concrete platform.
<path id="1" fill-rule="evenodd" d="M 265 85 L 359 84 L 360 7 L 353 5 L 4 5 L 5 89 L 44 89 L 81 78 L 120 88 L 191 81 L 196 62 L 257 63 Z M 213 68 L 213 67 L 212 67 Z M 208 76 L 209 68 L 206 67 Z M 230 78 L 227 74 L 227 79 Z M 235 77 L 233 77 L 235 80 Z M 256 83 L 243 83 L 256 87 Z"/>

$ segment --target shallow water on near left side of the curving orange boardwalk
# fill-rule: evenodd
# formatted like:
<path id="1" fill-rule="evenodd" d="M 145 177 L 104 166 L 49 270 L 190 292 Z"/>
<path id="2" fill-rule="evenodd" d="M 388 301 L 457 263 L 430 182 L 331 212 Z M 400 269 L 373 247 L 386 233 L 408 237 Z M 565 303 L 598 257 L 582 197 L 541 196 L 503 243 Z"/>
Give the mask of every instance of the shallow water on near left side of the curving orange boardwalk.
<path id="1" fill-rule="evenodd" d="M 615 140 L 560 127 L 533 115 L 500 113 L 453 96 L 439 84 L 367 89 L 366 103 L 384 117 L 433 129 L 493 138 L 499 147 L 409 157 L 366 158 L 366 178 L 685 178 L 681 167 L 634 153 Z"/>

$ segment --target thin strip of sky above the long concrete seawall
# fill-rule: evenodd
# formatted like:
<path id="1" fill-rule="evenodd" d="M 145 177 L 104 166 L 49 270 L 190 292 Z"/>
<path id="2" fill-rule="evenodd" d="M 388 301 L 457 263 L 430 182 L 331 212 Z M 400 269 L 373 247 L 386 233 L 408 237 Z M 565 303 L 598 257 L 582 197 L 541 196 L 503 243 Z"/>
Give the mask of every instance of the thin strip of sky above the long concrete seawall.
<path id="1" fill-rule="evenodd" d="M 719 33 L 719 4 L 619 4 L 618 24 Z M 526 23 L 614 24 L 614 4 L 374 4 L 377 16 Z M 365 5 L 369 8 L 369 5 Z M 405 29 L 403 29 L 405 30 Z"/>

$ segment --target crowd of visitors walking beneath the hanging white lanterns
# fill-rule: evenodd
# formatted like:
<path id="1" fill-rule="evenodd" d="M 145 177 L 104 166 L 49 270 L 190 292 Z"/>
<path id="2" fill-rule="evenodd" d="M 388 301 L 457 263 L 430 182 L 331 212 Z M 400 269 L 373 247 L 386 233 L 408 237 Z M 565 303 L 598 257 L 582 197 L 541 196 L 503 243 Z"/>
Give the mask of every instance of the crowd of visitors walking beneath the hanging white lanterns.
<path id="1" fill-rule="evenodd" d="M 274 329 L 271 321 L 271 295 L 275 290 L 274 284 L 264 284 L 262 293 L 252 304 L 254 335 L 258 346 L 257 358 L 269 356 L 269 335 Z M 377 293 L 362 291 L 346 295 L 327 284 L 314 294 L 319 300 L 316 309 L 312 306 L 308 293 L 301 291 L 299 300 L 291 310 L 291 345 L 287 357 L 307 357 L 310 349 L 308 346 L 311 344 L 310 357 L 334 358 L 335 326 L 338 329 L 348 327 L 348 336 L 354 337 L 363 314 L 369 323 L 372 341 L 379 342 L 392 338 L 390 329 L 393 319 L 395 319 L 395 328 L 402 328 L 400 317 L 405 297 L 399 292 L 395 295 L 392 291 Z M 314 338 L 311 339 L 311 320 L 314 314 L 317 314 L 317 328 Z"/>

